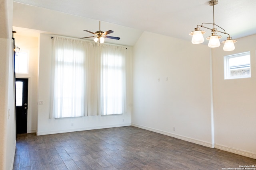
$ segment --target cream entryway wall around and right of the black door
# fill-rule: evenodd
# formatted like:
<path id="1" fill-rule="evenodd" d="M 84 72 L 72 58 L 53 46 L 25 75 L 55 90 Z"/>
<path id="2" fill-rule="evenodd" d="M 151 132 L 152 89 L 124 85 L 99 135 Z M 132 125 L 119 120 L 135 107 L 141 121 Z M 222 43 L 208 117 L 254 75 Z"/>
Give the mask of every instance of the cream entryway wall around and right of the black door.
<path id="1" fill-rule="evenodd" d="M 35 133 L 37 128 L 38 98 L 38 38 L 14 35 L 20 53 L 28 54 L 28 74 L 16 73 L 16 78 L 28 78 L 28 125 L 27 133 Z M 17 56 L 19 57 L 19 56 Z"/>

